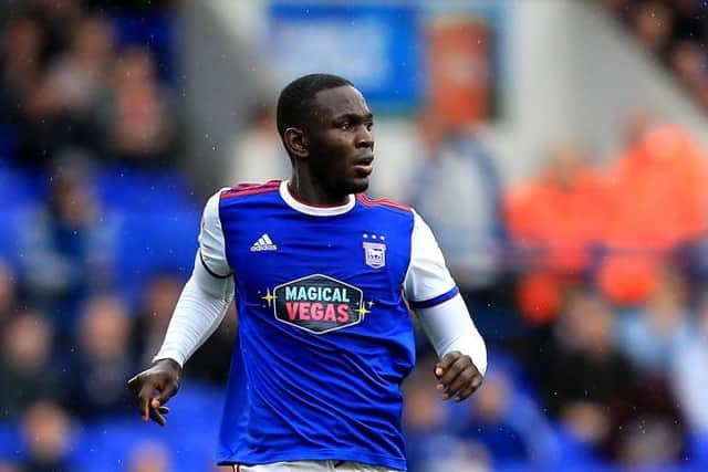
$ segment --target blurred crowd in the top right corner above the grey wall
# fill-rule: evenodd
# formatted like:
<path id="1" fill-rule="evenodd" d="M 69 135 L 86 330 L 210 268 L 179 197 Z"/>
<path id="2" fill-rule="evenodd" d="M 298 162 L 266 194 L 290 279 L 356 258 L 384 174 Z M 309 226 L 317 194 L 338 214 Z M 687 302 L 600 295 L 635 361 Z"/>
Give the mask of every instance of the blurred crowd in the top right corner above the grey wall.
<path id="1" fill-rule="evenodd" d="M 601 0 L 708 109 L 708 3 L 704 0 Z"/>

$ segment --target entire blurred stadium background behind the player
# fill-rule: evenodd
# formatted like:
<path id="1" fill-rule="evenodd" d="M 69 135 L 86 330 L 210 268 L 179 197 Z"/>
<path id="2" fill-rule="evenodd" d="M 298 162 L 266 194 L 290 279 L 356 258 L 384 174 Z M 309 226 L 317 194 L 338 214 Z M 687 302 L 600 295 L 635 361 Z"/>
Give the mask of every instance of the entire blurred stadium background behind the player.
<path id="1" fill-rule="evenodd" d="M 288 177 L 273 105 L 310 72 L 368 99 L 371 192 L 488 342 L 452 406 L 420 337 L 410 472 L 708 470 L 707 38 L 704 0 L 2 1 L 0 471 L 219 470 L 235 314 L 166 429 L 125 382 L 208 196 Z"/>

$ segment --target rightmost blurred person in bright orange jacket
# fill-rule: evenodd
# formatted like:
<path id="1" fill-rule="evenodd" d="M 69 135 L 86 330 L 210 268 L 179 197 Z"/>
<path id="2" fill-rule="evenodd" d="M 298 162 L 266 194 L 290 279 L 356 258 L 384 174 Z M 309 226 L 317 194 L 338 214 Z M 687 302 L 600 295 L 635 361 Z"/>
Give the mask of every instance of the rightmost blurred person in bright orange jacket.
<path id="1" fill-rule="evenodd" d="M 708 228 L 704 150 L 676 125 L 644 129 L 608 169 L 608 252 L 595 274 L 603 293 L 625 305 L 646 300 L 662 264 Z"/>

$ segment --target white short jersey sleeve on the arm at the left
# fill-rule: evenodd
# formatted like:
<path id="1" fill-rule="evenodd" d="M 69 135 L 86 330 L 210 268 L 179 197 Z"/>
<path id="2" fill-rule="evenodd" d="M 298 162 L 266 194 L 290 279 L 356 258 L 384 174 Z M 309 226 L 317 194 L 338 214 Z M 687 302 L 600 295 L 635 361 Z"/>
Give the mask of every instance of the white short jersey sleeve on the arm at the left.
<path id="1" fill-rule="evenodd" d="M 226 259 L 226 244 L 221 219 L 219 218 L 219 190 L 209 198 L 201 217 L 201 230 L 199 231 L 199 259 L 204 268 L 215 277 L 226 279 L 231 276 L 231 268 Z"/>

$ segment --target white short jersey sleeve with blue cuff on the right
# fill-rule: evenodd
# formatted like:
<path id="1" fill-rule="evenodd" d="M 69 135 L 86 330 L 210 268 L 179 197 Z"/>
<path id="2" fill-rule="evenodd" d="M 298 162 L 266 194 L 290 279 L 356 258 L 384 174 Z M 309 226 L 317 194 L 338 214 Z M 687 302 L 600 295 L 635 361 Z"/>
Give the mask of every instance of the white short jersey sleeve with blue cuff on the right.
<path id="1" fill-rule="evenodd" d="M 412 307 L 427 308 L 450 300 L 459 290 L 445 264 L 433 231 L 415 211 L 413 217 L 410 264 L 404 281 L 404 293 Z"/>

